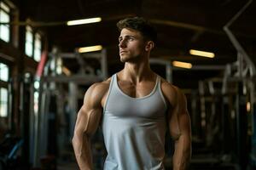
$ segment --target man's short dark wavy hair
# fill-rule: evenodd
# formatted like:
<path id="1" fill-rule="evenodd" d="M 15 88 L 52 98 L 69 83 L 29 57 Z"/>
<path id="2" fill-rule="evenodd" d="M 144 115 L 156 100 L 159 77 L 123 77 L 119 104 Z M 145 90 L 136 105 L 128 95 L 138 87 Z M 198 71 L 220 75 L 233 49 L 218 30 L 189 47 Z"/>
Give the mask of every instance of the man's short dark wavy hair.
<path id="1" fill-rule="evenodd" d="M 133 30 L 140 31 L 145 39 L 152 40 L 154 43 L 157 40 L 157 32 L 154 27 L 151 26 L 148 20 L 145 20 L 142 17 L 132 17 L 119 20 L 116 26 L 119 28 L 119 31 L 122 31 L 124 28 L 131 28 Z"/>

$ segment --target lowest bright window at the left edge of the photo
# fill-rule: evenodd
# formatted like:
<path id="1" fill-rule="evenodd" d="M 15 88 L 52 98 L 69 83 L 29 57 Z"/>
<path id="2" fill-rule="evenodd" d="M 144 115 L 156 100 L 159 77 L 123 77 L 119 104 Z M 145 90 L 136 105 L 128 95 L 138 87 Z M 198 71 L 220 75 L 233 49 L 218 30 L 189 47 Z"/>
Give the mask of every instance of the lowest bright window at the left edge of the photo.
<path id="1" fill-rule="evenodd" d="M 0 88 L 0 116 L 8 116 L 8 90 Z"/>

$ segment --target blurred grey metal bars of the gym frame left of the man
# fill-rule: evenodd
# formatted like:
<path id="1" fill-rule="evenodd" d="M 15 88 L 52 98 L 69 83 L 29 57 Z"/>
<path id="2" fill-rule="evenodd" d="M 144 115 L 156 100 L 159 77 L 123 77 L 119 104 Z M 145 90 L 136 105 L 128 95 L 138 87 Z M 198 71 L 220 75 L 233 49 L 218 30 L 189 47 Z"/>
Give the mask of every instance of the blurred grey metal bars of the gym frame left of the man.
<path id="1" fill-rule="evenodd" d="M 50 62 L 56 62 L 56 58 L 73 58 L 77 59 L 80 65 L 79 74 L 72 75 L 69 77 L 56 75 L 55 69 L 50 70 Z M 92 67 L 87 65 L 83 58 L 87 59 L 98 59 L 101 63 L 101 72 L 100 74 L 95 74 L 92 71 Z M 54 63 L 55 65 L 55 63 Z M 87 71 L 85 72 L 85 70 Z M 72 108 L 72 115 L 70 117 L 71 128 L 74 127 L 74 122 L 76 119 L 76 112 L 78 111 L 78 105 L 76 101 L 78 99 L 78 90 L 77 87 L 79 84 L 90 85 L 93 82 L 101 82 L 108 78 L 108 65 L 107 65 L 107 51 L 102 49 L 100 53 L 91 53 L 91 54 L 79 54 L 74 53 L 60 53 L 57 48 L 53 48 L 52 53 L 49 53 L 49 60 L 44 66 L 44 76 L 42 76 L 40 81 L 39 88 L 39 102 L 38 102 L 38 116 L 33 115 L 32 119 L 35 121 L 33 125 L 33 139 L 32 143 L 32 165 L 39 165 L 39 158 L 46 154 L 47 149 L 47 136 L 48 136 L 48 107 L 49 107 L 49 95 L 55 94 L 58 95 L 57 85 L 60 83 L 69 84 L 69 95 L 72 96 L 72 99 L 68 100 L 69 104 L 74 104 Z M 56 84 L 58 83 L 58 84 Z M 33 86 L 32 86 L 33 88 Z M 33 97 L 33 96 L 32 96 Z M 31 108 L 32 109 L 32 108 Z M 32 110 L 33 112 L 33 110 Z M 56 113 L 57 115 L 59 113 Z M 73 124 L 73 125 L 72 125 Z M 70 129 L 71 130 L 71 129 Z M 40 132 L 40 133 L 38 133 Z"/>

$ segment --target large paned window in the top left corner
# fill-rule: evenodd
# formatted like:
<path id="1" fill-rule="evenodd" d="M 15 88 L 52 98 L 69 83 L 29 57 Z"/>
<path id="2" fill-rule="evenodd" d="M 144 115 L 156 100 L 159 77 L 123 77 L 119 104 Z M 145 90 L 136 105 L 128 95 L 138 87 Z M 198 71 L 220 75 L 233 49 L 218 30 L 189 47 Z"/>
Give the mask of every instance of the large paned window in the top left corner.
<path id="1" fill-rule="evenodd" d="M 0 2 L 0 22 L 10 22 L 9 12 L 9 6 Z M 9 25 L 0 25 L 0 38 L 3 41 L 9 42 L 9 33 Z"/>

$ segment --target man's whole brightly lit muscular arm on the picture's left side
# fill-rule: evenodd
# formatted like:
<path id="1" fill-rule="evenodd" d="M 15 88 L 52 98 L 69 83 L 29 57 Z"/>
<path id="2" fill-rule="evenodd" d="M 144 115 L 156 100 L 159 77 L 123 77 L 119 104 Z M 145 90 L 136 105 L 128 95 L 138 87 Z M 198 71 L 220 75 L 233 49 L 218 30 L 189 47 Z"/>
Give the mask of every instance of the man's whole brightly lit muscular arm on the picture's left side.
<path id="1" fill-rule="evenodd" d="M 73 134 L 73 149 L 81 170 L 92 169 L 90 136 L 95 133 L 102 116 L 102 88 L 92 85 L 84 95 Z"/>

